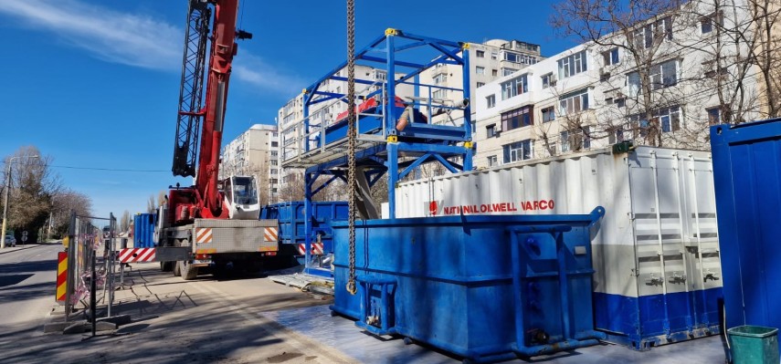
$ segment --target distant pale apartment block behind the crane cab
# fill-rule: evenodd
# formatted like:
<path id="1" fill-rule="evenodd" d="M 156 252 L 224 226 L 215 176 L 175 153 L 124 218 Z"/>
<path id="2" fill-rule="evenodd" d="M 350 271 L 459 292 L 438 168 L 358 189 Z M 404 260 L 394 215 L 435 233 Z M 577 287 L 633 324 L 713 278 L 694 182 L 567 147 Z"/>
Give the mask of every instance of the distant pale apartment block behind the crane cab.
<path id="1" fill-rule="evenodd" d="M 229 175 L 254 175 L 260 203 L 275 203 L 280 188 L 279 153 L 277 126 L 252 125 L 223 147 L 220 179 Z"/>

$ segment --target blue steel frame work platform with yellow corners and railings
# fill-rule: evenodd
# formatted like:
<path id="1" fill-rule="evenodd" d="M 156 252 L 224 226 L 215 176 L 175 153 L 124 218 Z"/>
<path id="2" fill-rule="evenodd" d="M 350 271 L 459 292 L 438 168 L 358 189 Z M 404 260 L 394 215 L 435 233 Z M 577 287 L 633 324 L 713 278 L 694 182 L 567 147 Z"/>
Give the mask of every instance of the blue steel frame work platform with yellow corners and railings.
<path id="1" fill-rule="evenodd" d="M 471 141 L 468 49 L 468 44 L 464 43 L 387 29 L 385 35 L 355 53 L 356 65 L 369 66 L 386 75 L 382 81 L 355 79 L 356 85 L 365 87 L 365 92 L 355 100 L 355 164 L 364 191 L 387 175 L 391 218 L 396 215 L 396 189 L 393 186 L 421 165 L 438 162 L 449 172 L 472 169 L 474 145 Z M 319 110 L 323 102 L 349 101 L 345 92 L 328 88 L 333 82 L 341 82 L 343 86 L 339 89 L 346 91 L 347 78 L 340 76 L 346 66 L 345 62 L 333 68 L 304 90 L 302 132 L 291 151 L 283 142 L 282 167 L 305 171 L 304 209 L 308 216 L 312 214 L 313 195 L 331 182 L 347 182 L 346 117 L 311 121 L 311 110 Z M 420 81 L 424 71 L 443 66 L 447 67 L 448 73 L 460 73 L 460 88 Z M 412 90 L 411 94 L 401 92 L 401 88 Z M 450 97 L 440 98 L 443 94 Z M 447 114 L 449 122 L 432 122 L 443 114 Z M 458 120 L 453 120 L 452 115 Z M 312 226 L 307 224 L 305 228 L 306 261 L 309 262 Z"/>

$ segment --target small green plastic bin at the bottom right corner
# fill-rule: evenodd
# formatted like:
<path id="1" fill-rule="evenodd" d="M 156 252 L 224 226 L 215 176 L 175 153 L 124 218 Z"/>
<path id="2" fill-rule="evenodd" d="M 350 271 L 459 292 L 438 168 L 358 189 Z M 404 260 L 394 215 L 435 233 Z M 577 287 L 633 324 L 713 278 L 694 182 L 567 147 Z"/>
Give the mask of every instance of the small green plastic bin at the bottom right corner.
<path id="1" fill-rule="evenodd" d="M 734 364 L 778 364 L 778 329 L 744 325 L 727 330 Z"/>

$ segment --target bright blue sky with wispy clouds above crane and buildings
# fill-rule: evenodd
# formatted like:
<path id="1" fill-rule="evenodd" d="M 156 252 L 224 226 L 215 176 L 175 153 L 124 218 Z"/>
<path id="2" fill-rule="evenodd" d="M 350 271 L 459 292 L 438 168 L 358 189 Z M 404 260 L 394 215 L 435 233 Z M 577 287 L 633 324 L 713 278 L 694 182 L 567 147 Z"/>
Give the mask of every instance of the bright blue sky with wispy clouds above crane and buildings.
<path id="1" fill-rule="evenodd" d="M 244 0 L 224 143 L 346 58 L 344 1 Z M 544 56 L 574 43 L 547 25 L 551 2 L 356 1 L 356 47 L 387 27 L 448 40 L 520 39 Z M 0 0 L 0 157 L 35 145 L 96 215 L 142 212 L 176 182 L 175 114 L 186 0 Z M 90 171 L 67 167 L 159 172 Z"/>

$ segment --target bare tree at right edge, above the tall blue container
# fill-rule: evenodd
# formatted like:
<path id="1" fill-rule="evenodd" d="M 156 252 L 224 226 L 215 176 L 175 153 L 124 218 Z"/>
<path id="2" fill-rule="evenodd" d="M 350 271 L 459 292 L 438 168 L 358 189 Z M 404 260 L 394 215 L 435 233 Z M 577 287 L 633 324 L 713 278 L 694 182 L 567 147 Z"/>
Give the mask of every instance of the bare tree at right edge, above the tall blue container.
<path id="1" fill-rule="evenodd" d="M 686 20 L 709 42 L 705 87 L 718 90 L 712 121 L 781 116 L 781 4 L 777 0 L 693 0 Z M 715 119 L 715 120 L 714 120 Z"/>

